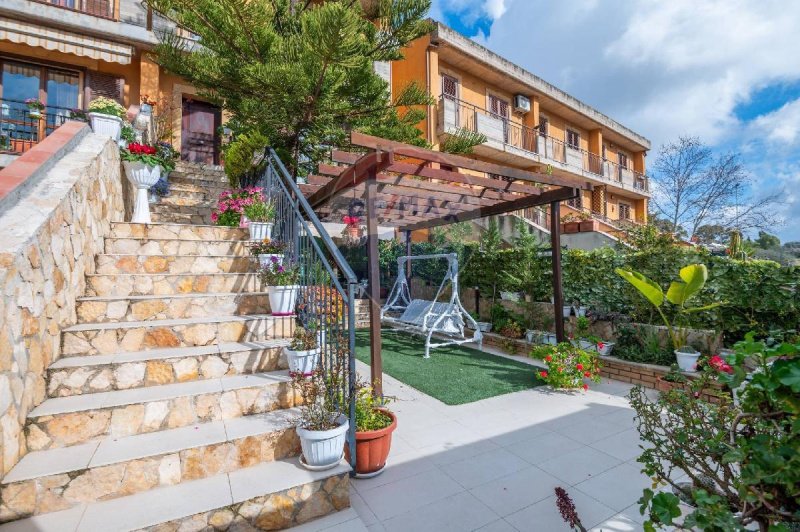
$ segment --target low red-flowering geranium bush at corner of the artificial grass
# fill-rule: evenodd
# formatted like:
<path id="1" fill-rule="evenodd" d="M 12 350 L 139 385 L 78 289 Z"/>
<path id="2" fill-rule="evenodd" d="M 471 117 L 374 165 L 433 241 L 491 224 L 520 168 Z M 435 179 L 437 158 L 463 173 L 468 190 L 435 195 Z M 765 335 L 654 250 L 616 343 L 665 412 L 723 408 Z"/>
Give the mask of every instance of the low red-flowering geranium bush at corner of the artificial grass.
<path id="1" fill-rule="evenodd" d="M 596 353 L 567 342 L 548 347 L 549 353 L 543 358 L 547 370 L 539 371 L 538 375 L 553 388 L 588 390 L 584 379 L 600 381 L 600 361 Z M 540 350 L 537 354 L 543 353 L 544 350 Z"/>

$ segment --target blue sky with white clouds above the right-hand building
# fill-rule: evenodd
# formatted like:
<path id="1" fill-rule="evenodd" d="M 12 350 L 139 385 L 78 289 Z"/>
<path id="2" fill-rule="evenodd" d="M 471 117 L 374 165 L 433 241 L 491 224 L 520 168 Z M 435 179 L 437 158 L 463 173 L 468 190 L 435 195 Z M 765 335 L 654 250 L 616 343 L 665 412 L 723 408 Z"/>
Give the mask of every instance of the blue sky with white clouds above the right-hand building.
<path id="1" fill-rule="evenodd" d="M 659 146 L 742 154 L 800 240 L 800 2 L 433 0 L 431 15 Z"/>

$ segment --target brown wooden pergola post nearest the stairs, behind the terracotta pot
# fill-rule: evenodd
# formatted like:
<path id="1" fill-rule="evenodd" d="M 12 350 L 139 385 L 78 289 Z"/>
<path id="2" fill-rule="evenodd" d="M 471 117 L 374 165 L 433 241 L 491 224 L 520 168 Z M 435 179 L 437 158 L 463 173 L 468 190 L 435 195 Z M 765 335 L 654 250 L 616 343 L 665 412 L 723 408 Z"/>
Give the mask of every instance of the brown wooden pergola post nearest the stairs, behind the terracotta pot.
<path id="1" fill-rule="evenodd" d="M 381 279 L 378 268 L 378 213 L 375 195 L 377 172 L 373 166 L 368 173 L 367 192 L 367 278 L 369 281 L 369 346 L 370 379 L 376 397 L 383 395 L 383 361 L 381 360 Z"/>

